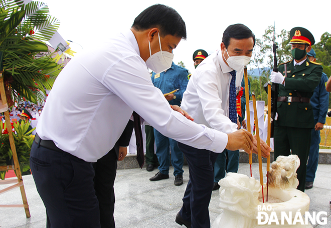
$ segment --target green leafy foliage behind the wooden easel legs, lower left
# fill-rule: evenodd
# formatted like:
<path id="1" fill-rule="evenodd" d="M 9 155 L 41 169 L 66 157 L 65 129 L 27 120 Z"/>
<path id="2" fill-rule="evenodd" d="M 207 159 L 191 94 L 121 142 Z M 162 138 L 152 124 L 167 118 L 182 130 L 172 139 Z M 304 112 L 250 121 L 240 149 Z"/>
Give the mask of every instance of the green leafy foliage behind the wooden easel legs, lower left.
<path id="1" fill-rule="evenodd" d="M 15 132 L 13 132 L 16 152 L 20 162 L 21 172 L 30 169 L 30 150 L 34 140 L 31 134 L 35 128 L 28 131 L 30 123 L 14 123 Z M 0 165 L 6 165 L 12 159 L 13 151 L 9 142 L 8 133 L 3 133 L 3 122 L 0 121 Z M 7 171 L 0 171 L 0 178 L 4 179 Z"/>

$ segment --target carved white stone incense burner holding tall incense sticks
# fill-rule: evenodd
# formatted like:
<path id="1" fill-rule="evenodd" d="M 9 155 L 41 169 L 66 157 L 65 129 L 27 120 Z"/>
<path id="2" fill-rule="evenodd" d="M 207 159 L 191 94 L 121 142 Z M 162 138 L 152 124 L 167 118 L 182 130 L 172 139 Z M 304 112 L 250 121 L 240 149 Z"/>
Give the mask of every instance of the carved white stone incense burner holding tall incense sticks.
<path id="1" fill-rule="evenodd" d="M 312 227 L 303 217 L 309 209 L 310 199 L 307 194 L 296 189 L 299 184 L 296 169 L 299 165 L 297 155 L 278 156 L 272 162 L 268 202 L 267 186 L 263 186 L 265 203 L 262 202 L 260 181 L 244 174 L 229 172 L 219 181 L 219 205 L 223 212 L 216 218 L 212 228 Z M 258 216 L 263 217 L 258 219 Z"/>

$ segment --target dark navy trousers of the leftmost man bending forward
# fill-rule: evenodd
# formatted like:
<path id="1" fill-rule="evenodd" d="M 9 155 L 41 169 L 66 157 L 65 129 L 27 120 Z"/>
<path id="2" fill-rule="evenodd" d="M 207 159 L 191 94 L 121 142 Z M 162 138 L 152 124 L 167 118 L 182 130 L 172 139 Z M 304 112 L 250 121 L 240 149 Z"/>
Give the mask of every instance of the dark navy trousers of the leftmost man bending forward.
<path id="1" fill-rule="evenodd" d="M 92 163 L 33 142 L 30 166 L 48 228 L 100 227 Z"/>

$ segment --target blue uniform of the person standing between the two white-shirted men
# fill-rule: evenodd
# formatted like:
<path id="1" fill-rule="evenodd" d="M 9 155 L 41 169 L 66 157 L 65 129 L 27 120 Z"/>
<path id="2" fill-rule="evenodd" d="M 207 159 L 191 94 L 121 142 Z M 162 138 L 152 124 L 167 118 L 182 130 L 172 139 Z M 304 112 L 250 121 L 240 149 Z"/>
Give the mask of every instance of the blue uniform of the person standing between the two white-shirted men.
<path id="1" fill-rule="evenodd" d="M 151 80 L 155 87 L 159 88 L 162 93 L 168 93 L 179 88 L 179 91 L 175 92 L 175 99 L 169 101 L 172 105 L 181 105 L 183 93 L 186 90 L 186 86 L 189 82 L 189 72 L 187 69 L 176 65 L 174 62 L 171 68 L 161 73 L 152 73 Z M 174 129 L 176 130 L 176 129 Z M 183 174 L 183 152 L 179 149 L 177 141 L 172 138 L 168 138 L 154 129 L 154 137 L 156 144 L 156 156 L 159 162 L 158 170 L 162 174 L 169 174 L 170 166 L 170 150 L 171 149 L 171 162 L 174 166 L 174 175 Z"/>

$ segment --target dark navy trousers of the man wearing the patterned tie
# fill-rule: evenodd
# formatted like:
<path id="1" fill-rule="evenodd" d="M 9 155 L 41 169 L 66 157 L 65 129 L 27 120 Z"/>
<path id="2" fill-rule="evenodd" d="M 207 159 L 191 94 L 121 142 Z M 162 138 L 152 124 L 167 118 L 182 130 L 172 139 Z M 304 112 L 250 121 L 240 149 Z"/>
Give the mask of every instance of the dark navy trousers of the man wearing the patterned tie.
<path id="1" fill-rule="evenodd" d="M 178 142 L 190 170 L 190 180 L 186 187 L 180 214 L 192 222 L 192 228 L 210 228 L 209 202 L 214 184 L 214 163 L 217 153 L 207 149 L 197 149 Z"/>

